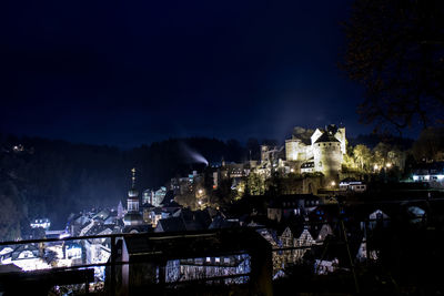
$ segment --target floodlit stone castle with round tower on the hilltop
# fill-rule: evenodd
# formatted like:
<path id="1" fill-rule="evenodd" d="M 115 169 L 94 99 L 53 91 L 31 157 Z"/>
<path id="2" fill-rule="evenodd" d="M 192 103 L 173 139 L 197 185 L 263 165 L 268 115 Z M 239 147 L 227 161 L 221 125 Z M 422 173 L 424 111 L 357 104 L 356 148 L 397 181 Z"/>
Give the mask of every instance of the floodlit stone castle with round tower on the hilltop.
<path id="1" fill-rule="evenodd" d="M 321 187 L 335 187 L 340 181 L 346 153 L 345 127 L 330 124 L 314 131 L 302 127 L 299 130 L 285 141 L 284 145 L 261 145 L 259 162 L 250 160 L 249 162 L 228 164 L 222 160 L 221 166 L 215 167 L 212 172 L 213 190 L 218 188 L 223 180 L 231 178 L 233 181 L 232 188 L 242 192 L 244 184 L 242 180 L 250 174 L 260 178 L 259 183 L 264 183 L 274 173 L 310 174 L 304 175 L 294 190 L 287 194 L 315 194 Z M 322 173 L 322 175 L 315 173 Z M 171 182 L 174 194 L 183 194 L 186 190 L 192 192 L 191 178 L 186 181 Z M 183 184 L 183 188 L 179 184 Z M 260 192 L 250 192 L 250 194 L 256 195 Z"/>

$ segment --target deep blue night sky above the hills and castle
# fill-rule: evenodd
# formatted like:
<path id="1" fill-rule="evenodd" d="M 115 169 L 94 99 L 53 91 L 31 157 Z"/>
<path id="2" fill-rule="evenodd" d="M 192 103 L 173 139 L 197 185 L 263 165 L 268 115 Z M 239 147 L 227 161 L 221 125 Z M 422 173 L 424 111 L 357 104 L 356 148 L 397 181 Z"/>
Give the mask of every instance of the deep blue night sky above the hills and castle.
<path id="1" fill-rule="evenodd" d="M 351 1 L 7 1 L 0 131 L 130 147 L 357 123 Z"/>

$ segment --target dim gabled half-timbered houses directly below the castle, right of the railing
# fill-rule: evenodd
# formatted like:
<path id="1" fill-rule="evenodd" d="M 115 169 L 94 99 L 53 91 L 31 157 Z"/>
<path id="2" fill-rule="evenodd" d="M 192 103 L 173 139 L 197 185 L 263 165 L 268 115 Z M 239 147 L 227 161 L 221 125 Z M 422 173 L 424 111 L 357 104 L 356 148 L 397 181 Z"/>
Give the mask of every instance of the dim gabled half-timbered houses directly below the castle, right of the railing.
<path id="1" fill-rule="evenodd" d="M 424 225 L 424 206 L 357 203 L 344 207 L 336 198 L 289 195 L 272 200 L 268 218 L 258 224 L 273 248 L 274 278 L 283 276 L 285 267 L 304 262 L 312 264 L 316 274 L 327 274 L 350 269 L 356 262 L 377 259 L 377 249 L 367 247 L 374 232 L 387 227 L 391 216 L 405 216 L 415 227 Z"/>

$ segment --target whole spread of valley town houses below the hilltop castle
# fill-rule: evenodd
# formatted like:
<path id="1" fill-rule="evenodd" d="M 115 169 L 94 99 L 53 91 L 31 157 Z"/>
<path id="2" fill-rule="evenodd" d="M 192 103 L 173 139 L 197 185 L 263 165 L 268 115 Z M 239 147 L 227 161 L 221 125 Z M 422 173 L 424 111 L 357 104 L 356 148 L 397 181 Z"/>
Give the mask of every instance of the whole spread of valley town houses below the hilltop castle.
<path id="1" fill-rule="evenodd" d="M 350 186 L 359 184 L 350 181 Z M 400 215 L 398 206 L 342 206 L 340 198 L 325 198 L 312 194 L 266 197 L 265 208 L 233 215 L 213 208 L 191 211 L 164 198 L 160 206 L 134 204 L 134 188 L 128 195 L 127 208 L 91 211 L 72 215 L 67 231 L 59 235 L 72 237 L 135 232 L 190 233 L 211 229 L 254 229 L 272 251 L 273 278 L 285 276 L 290 266 L 311 264 L 317 274 L 329 274 L 351 266 L 353 262 L 376 259 L 377 249 L 367 247 L 367 239 L 379 227 L 386 227 L 392 215 Z M 167 195 L 168 197 L 168 195 Z M 263 196 L 265 198 L 265 196 Z M 412 223 L 424 223 L 421 205 L 403 207 Z M 40 221 L 38 221 L 40 223 Z M 42 220 L 41 223 L 49 223 Z M 48 232 L 50 233 L 50 232 Z M 347 239 L 344 239 L 346 235 Z M 56 266 L 107 263 L 111 255 L 110 238 L 59 241 L 43 244 L 4 246 L 0 249 L 2 265 L 21 271 Z M 123 251 L 122 251 L 123 252 Z M 130 251 L 125 251 L 130 252 Z M 172 258 L 165 266 L 165 282 L 193 280 L 199 276 L 224 276 L 250 271 L 250 255 L 202 254 L 190 258 Z M 130 255 L 129 255 L 130 256 Z M 95 278 L 104 280 L 104 267 L 95 268 Z M 240 282 L 241 283 L 241 282 Z"/>

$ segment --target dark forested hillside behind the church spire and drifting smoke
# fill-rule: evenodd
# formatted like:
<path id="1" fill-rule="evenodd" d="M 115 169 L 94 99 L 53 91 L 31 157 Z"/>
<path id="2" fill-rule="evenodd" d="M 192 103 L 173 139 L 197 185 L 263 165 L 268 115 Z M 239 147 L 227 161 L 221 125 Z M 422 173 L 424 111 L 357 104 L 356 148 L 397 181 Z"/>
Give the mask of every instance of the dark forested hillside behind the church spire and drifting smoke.
<path id="1" fill-rule="evenodd" d="M 0 136 L 0 239 L 17 237 L 28 220 L 48 216 L 62 227 L 68 215 L 125 200 L 130 169 L 138 188 L 157 188 L 204 162 L 242 161 L 235 140 L 171 139 L 129 151 L 37 137 Z M 12 218 L 13 217 L 13 218 Z"/>

